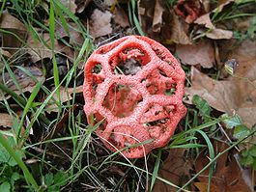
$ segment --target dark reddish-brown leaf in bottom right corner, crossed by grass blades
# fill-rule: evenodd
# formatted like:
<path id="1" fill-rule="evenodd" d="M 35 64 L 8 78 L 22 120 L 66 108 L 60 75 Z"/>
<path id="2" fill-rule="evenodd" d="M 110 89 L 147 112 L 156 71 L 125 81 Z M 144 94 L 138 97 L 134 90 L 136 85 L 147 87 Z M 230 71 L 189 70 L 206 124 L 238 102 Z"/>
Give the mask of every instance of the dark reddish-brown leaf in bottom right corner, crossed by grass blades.
<path id="1" fill-rule="evenodd" d="M 225 142 L 213 142 L 214 152 L 218 153 L 228 148 Z M 196 159 L 195 170 L 199 172 L 209 163 L 209 154 L 206 151 L 202 151 Z M 198 179 L 201 183 L 195 185 L 201 191 L 207 191 L 209 169 L 204 171 Z M 242 169 L 238 163 L 238 159 L 235 155 L 228 152 L 221 155 L 216 160 L 216 165 L 213 171 L 213 177 L 211 180 L 211 191 L 215 192 L 250 192 L 252 188 L 251 176 L 247 173 L 247 170 Z"/>

